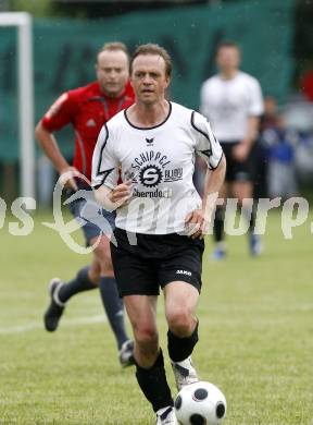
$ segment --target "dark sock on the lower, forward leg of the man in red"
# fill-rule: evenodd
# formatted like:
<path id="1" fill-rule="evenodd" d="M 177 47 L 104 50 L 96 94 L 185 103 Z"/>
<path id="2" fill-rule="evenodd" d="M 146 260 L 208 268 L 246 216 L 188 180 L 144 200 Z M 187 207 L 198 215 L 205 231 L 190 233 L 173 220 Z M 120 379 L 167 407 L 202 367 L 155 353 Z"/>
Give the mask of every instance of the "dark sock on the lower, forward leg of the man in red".
<path id="1" fill-rule="evenodd" d="M 120 299 L 116 280 L 101 277 L 100 294 L 111 328 L 115 335 L 118 350 L 129 338 L 126 335 L 124 323 L 124 304 Z"/>

